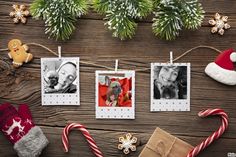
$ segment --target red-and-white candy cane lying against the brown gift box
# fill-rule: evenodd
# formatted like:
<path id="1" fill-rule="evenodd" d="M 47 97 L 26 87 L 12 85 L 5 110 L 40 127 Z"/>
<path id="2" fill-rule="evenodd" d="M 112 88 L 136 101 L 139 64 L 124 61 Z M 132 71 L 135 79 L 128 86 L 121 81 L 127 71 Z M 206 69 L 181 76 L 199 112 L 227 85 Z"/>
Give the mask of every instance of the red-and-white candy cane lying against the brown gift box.
<path id="1" fill-rule="evenodd" d="M 228 127 L 228 115 L 222 109 L 207 109 L 198 113 L 199 117 L 207 117 L 210 115 L 220 115 L 222 118 L 222 125 L 211 136 L 205 139 L 202 143 L 191 150 L 187 157 L 194 157 L 199 154 L 200 151 L 209 146 L 214 140 L 218 139 Z"/>

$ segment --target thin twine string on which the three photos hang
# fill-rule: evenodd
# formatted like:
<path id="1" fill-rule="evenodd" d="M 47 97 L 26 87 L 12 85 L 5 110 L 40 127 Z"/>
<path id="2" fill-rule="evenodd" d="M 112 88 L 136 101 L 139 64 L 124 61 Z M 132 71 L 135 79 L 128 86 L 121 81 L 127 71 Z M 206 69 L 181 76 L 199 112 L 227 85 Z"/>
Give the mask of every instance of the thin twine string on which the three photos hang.
<path id="1" fill-rule="evenodd" d="M 38 44 L 38 43 L 26 43 L 26 45 L 33 45 L 33 46 L 38 46 L 38 47 L 41 47 L 41 48 L 44 48 L 45 50 L 47 50 L 48 52 L 54 54 L 55 56 L 58 56 L 58 54 L 51 50 L 50 48 L 42 45 L 42 44 Z M 208 49 L 211 49 L 211 50 L 214 50 L 218 53 L 221 53 L 221 51 L 215 47 L 212 47 L 212 46 L 206 46 L 206 45 L 199 45 L 199 46 L 195 46 L 187 51 L 185 51 L 183 54 L 179 55 L 178 57 L 174 58 L 173 59 L 173 62 L 174 61 L 177 61 L 179 60 L 180 58 L 183 58 L 184 56 L 186 56 L 187 54 L 189 54 L 191 51 L 195 50 L 195 49 L 198 49 L 198 48 L 208 48 Z M 7 48 L 5 49 L 0 49 L 0 51 L 8 51 Z M 80 61 L 80 63 L 82 64 L 87 64 L 87 65 L 92 65 L 92 66 L 97 66 L 97 67 L 101 67 L 101 68 L 106 68 L 108 70 L 114 70 L 114 68 L 112 67 L 108 67 L 108 66 L 105 66 L 105 65 L 100 65 L 100 64 L 96 64 L 96 63 L 92 63 L 92 62 L 86 62 L 86 61 Z M 167 62 L 168 63 L 168 62 Z M 122 69 L 119 69 L 119 70 L 122 70 Z M 150 68 L 140 68 L 140 69 L 136 69 L 135 71 L 147 71 L 147 70 L 150 70 Z"/>

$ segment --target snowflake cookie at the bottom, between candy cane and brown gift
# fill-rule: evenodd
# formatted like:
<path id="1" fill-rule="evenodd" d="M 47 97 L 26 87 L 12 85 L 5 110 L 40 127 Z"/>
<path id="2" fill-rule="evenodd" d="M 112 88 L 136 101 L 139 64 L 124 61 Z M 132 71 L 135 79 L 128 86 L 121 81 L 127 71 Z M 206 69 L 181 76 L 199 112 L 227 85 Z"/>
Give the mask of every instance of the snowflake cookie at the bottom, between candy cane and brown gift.
<path id="1" fill-rule="evenodd" d="M 130 133 L 126 134 L 124 137 L 119 137 L 118 149 L 123 150 L 125 154 L 129 154 L 131 151 L 136 151 L 135 143 L 137 143 L 137 138 L 132 136 Z"/>

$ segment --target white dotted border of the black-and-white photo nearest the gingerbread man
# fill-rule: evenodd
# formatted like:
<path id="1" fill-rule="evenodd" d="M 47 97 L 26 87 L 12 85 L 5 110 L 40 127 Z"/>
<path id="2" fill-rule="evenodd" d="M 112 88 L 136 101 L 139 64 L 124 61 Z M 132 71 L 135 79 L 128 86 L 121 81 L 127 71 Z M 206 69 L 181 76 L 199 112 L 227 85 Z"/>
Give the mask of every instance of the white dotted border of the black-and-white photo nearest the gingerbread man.
<path id="1" fill-rule="evenodd" d="M 76 93 L 44 93 L 43 67 L 47 61 L 74 61 L 76 63 Z M 80 58 L 41 58 L 41 96 L 42 105 L 80 105 Z"/>

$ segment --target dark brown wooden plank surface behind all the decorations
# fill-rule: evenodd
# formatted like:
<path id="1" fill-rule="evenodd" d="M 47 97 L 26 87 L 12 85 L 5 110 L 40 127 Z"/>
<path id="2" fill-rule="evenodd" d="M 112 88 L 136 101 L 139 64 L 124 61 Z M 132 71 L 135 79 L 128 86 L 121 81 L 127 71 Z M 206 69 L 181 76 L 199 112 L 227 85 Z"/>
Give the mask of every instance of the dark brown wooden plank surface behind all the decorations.
<path id="1" fill-rule="evenodd" d="M 19 38 L 24 43 L 36 42 L 53 50 L 61 45 L 63 56 L 79 56 L 82 61 L 114 66 L 115 59 L 120 60 L 119 67 L 137 69 L 149 67 L 151 62 L 165 62 L 172 50 L 175 56 L 198 45 L 209 45 L 224 50 L 236 48 L 236 1 L 201 0 L 206 11 L 202 27 L 197 31 L 182 31 L 175 41 L 163 41 L 155 37 L 151 29 L 151 16 L 138 22 L 136 35 L 132 40 L 120 41 L 112 38 L 104 26 L 102 16 L 92 9 L 77 22 L 77 30 L 71 40 L 55 42 L 44 34 L 43 21 L 28 18 L 26 25 L 13 24 L 8 14 L 15 3 L 30 4 L 29 0 L 0 0 L 0 48 L 6 48 L 10 39 Z M 229 16 L 231 29 L 224 36 L 212 35 L 208 20 L 216 13 Z M 156 127 L 197 145 L 220 125 L 218 117 L 201 119 L 200 110 L 223 108 L 230 117 L 229 129 L 199 157 L 226 157 L 228 152 L 236 153 L 236 87 L 220 84 L 204 73 L 205 66 L 214 60 L 217 53 L 209 49 L 194 50 L 179 62 L 192 64 L 191 75 L 191 112 L 150 111 L 150 71 L 136 73 L 136 118 L 135 120 L 96 120 L 95 119 L 95 70 L 100 67 L 81 64 L 81 106 L 41 106 L 40 58 L 54 57 L 42 48 L 31 46 L 35 56 L 33 62 L 20 69 L 11 68 L 7 52 L 1 52 L 0 63 L 0 103 L 10 102 L 15 106 L 27 103 L 33 114 L 34 122 L 39 125 L 50 144 L 42 157 L 81 156 L 92 157 L 86 141 L 78 131 L 70 134 L 70 152 L 64 153 L 61 133 L 70 122 L 84 124 L 93 135 L 105 157 L 122 157 L 117 150 L 118 137 L 131 132 L 138 137 L 137 151 L 129 156 L 137 157 Z M 12 144 L 0 135 L 0 156 L 16 156 Z"/>

